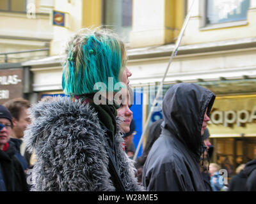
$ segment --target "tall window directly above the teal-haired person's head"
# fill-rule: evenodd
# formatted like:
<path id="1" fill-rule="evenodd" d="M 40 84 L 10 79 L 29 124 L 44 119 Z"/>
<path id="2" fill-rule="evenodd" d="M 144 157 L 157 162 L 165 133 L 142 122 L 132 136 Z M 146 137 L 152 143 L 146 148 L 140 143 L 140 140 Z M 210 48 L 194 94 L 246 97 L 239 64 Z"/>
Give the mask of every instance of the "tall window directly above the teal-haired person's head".
<path id="1" fill-rule="evenodd" d="M 132 0 L 108 0 L 104 3 L 102 24 L 113 29 L 125 42 L 132 28 Z"/>

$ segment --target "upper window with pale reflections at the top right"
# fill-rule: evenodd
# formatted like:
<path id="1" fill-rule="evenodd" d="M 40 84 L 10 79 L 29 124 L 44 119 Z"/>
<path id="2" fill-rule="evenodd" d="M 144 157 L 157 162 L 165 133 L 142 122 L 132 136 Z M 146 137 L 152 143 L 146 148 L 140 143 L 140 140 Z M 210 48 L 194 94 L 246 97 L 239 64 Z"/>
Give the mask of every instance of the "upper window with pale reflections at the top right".
<path id="1" fill-rule="evenodd" d="M 206 23 L 220 24 L 246 20 L 250 0 L 207 0 Z"/>

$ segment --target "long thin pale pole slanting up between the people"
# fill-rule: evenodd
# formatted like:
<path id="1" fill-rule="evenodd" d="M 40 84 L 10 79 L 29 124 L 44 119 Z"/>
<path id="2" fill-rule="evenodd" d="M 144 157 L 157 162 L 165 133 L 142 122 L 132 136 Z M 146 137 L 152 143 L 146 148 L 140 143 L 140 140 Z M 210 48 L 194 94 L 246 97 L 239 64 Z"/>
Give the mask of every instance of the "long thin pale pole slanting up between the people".
<path id="1" fill-rule="evenodd" d="M 191 16 L 191 12 L 192 12 L 192 8 L 193 8 L 193 4 L 194 4 L 194 3 L 195 3 L 195 0 L 193 0 L 193 2 L 192 2 L 192 4 L 191 4 L 191 7 L 189 8 L 188 15 L 186 16 L 186 18 L 185 18 L 185 20 L 184 20 L 184 24 L 182 25 L 182 28 L 181 28 L 181 30 L 180 30 L 179 37 L 178 37 L 178 39 L 177 39 L 177 41 L 176 41 L 176 43 L 175 43 L 175 47 L 174 47 L 174 49 L 173 49 L 172 55 L 171 55 L 170 60 L 169 60 L 169 62 L 168 62 L 167 68 L 166 68 L 166 70 L 165 70 L 164 77 L 163 77 L 163 79 L 162 79 L 162 81 L 161 81 L 161 84 L 159 85 L 158 90 L 157 90 L 157 94 L 156 94 L 156 97 L 155 97 L 155 99 L 154 99 L 153 105 L 152 105 L 151 108 L 150 108 L 150 113 L 149 113 L 149 115 L 148 115 L 147 122 L 146 122 L 146 124 L 145 124 L 144 129 L 143 129 L 143 133 L 142 133 L 142 135 L 141 135 L 140 142 L 138 143 L 138 147 L 137 147 L 136 152 L 135 152 L 135 154 L 134 154 L 133 161 L 136 161 L 136 158 L 137 158 L 137 156 L 138 156 L 138 152 L 139 152 L 139 150 L 140 150 L 141 143 L 142 143 L 143 138 L 144 138 L 144 136 L 145 136 L 146 129 L 148 128 L 148 124 L 149 124 L 150 118 L 151 118 L 151 116 L 152 116 L 152 112 L 153 112 L 153 110 L 154 110 L 154 106 L 155 106 L 156 103 L 157 103 L 157 98 L 158 98 L 159 93 L 161 92 L 161 90 L 162 90 L 162 88 L 163 88 L 163 82 L 164 82 L 164 79 L 165 79 L 165 77 L 166 77 L 166 75 L 167 75 L 167 73 L 168 73 L 168 70 L 169 70 L 169 68 L 170 68 L 170 64 L 172 63 L 173 57 L 175 57 L 175 56 L 177 55 L 177 51 L 178 51 L 178 48 L 179 48 L 179 45 L 180 45 L 180 41 L 182 40 L 182 36 L 183 36 L 183 34 L 184 34 L 184 31 L 185 31 L 185 29 L 186 29 L 186 27 L 187 27 L 187 25 L 188 25 L 188 21 L 189 21 L 189 18 L 190 18 L 190 16 Z"/>

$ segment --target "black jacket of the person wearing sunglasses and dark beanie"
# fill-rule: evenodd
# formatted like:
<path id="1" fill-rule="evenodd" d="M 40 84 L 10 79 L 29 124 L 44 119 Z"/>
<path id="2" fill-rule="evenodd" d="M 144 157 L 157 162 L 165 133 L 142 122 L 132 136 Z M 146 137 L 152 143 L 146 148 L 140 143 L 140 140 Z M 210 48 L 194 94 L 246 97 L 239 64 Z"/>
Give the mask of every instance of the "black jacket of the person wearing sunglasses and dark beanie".
<path id="1" fill-rule="evenodd" d="M 1 173 L 6 191 L 28 191 L 24 170 L 15 156 L 16 149 L 12 142 L 4 152 L 0 150 Z"/>

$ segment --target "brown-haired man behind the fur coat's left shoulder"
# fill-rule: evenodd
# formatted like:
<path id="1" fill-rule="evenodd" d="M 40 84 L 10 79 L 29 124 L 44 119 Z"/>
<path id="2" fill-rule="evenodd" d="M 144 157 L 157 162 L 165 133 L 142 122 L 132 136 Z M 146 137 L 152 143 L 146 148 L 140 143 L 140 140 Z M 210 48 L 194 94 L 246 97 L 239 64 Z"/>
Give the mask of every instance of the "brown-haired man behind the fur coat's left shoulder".
<path id="1" fill-rule="evenodd" d="M 28 162 L 20 154 L 20 145 L 22 144 L 22 138 L 24 136 L 24 130 L 30 124 L 30 117 L 28 114 L 28 108 L 30 103 L 23 98 L 11 99 L 3 104 L 13 116 L 13 129 L 11 133 L 11 141 L 15 143 L 16 156 L 20 161 L 24 170 L 29 168 Z"/>

